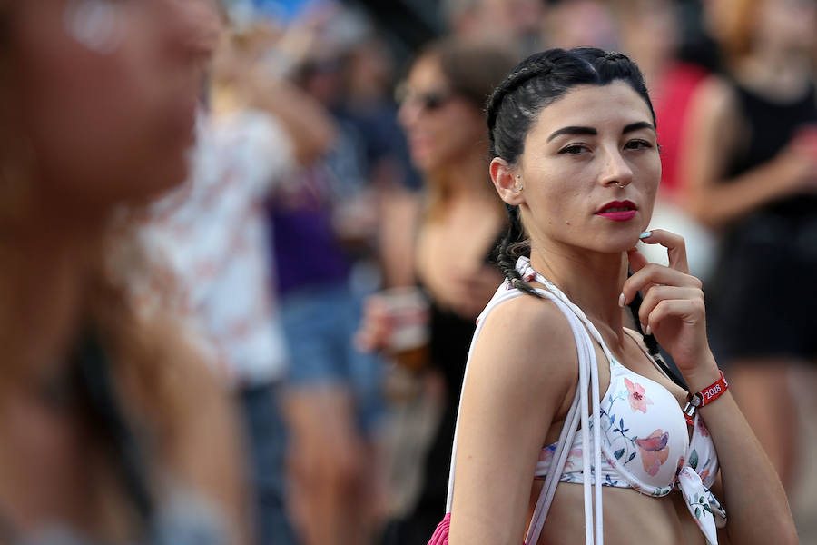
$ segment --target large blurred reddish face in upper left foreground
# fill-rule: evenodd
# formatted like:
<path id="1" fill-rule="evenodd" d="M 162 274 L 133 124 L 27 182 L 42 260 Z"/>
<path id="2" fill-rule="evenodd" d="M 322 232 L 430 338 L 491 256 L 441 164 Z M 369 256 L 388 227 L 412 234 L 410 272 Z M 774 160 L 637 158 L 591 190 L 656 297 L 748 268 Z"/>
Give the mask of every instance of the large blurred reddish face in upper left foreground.
<path id="1" fill-rule="evenodd" d="M 212 0 L 16 0 L 13 16 L 10 83 L 44 192 L 90 210 L 183 181 Z"/>

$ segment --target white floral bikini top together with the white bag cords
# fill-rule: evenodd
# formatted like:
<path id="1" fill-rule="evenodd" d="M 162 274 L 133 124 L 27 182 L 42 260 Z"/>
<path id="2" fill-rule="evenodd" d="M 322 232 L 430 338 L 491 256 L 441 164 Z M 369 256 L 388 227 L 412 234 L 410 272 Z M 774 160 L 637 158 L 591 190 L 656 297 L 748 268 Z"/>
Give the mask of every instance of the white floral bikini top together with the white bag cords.
<path id="1" fill-rule="evenodd" d="M 567 412 L 559 441 L 542 449 L 535 477 L 544 485 L 533 510 L 524 543 L 538 542 L 559 482 L 582 483 L 585 501 L 585 543 L 603 545 L 604 517 L 602 488 L 631 488 L 642 494 L 661 497 L 677 488 L 709 545 L 717 545 L 717 528 L 726 522 L 726 513 L 709 487 L 718 472 L 717 454 L 704 421 L 696 415 L 692 438 L 686 418 L 674 395 L 658 382 L 630 371 L 615 360 L 596 326 L 565 293 L 530 266 L 527 257 L 517 261 L 517 272 L 525 282 L 536 280 L 547 289 L 537 289 L 553 302 L 570 325 L 576 341 L 579 380 L 576 395 Z M 477 329 L 468 352 L 468 368 L 485 325 L 487 315 L 502 302 L 523 292 L 504 282 L 477 318 Z M 625 330 L 627 331 L 627 330 Z M 628 332 L 635 335 L 635 332 Z M 637 337 L 634 337 L 638 341 Z M 605 352 L 610 366 L 610 385 L 600 394 L 595 342 Z M 639 346 L 641 346 L 639 342 Z M 642 351 L 661 370 L 661 367 Z M 661 370 L 664 372 L 663 370 Z M 462 396 L 460 396 L 460 408 Z M 451 448 L 448 472 L 446 516 L 429 544 L 448 543 L 448 523 L 454 499 L 457 428 Z M 551 471 L 553 468 L 553 471 Z M 596 479 L 598 475 L 598 479 Z M 591 488 L 593 490 L 591 490 Z"/>

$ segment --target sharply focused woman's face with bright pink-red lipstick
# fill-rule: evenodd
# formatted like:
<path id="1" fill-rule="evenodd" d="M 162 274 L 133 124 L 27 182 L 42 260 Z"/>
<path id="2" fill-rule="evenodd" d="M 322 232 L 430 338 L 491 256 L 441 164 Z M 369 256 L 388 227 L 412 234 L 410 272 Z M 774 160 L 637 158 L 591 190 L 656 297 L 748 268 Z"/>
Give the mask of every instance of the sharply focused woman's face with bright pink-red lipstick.
<path id="1" fill-rule="evenodd" d="M 639 94 L 623 82 L 576 86 L 542 108 L 524 144 L 513 172 L 534 248 L 616 253 L 635 245 L 661 179 L 653 118 Z"/>

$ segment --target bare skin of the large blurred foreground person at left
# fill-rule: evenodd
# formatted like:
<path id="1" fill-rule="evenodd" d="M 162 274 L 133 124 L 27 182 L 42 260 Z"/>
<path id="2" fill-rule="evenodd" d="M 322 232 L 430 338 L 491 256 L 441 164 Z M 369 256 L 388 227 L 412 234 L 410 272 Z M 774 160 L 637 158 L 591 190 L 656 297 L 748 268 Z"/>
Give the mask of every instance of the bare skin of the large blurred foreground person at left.
<path id="1" fill-rule="evenodd" d="M 205 0 L 113 3 L 127 30 L 116 47 L 99 52 L 66 32 L 69 2 L 12 4 L 15 32 L 3 56 L 15 68 L 4 88 L 5 105 L 14 107 L 2 131 L 31 154 L 2 157 L 4 167 L 19 167 L 28 191 L 14 215 L 0 218 L 0 442 L 14 445 L 0 451 L 0 511 L 24 536 L 56 520 L 94 538 L 122 539 L 129 522 L 121 483 L 87 441 L 88 422 L 44 403 L 41 390 L 64 372 L 75 328 L 94 302 L 88 286 L 98 262 L 111 257 L 101 249 L 113 211 L 148 202 L 187 175 L 195 102 L 218 17 Z M 126 357 L 114 380 L 134 420 L 155 424 L 162 467 L 214 501 L 227 530 L 235 530 L 231 539 L 242 542 L 231 409 L 169 322 L 140 323 L 133 337 L 168 351 L 157 354 L 157 361 L 173 362 L 162 386 L 184 384 L 208 402 L 194 412 L 157 414 Z"/>

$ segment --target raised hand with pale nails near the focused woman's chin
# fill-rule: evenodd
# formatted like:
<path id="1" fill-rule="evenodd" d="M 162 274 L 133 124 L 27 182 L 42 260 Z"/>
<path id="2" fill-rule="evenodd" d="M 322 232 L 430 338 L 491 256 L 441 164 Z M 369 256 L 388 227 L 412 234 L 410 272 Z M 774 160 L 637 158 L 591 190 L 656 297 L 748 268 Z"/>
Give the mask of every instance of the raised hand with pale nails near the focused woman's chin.
<path id="1" fill-rule="evenodd" d="M 664 246 L 669 265 L 649 263 L 636 248 L 628 251 L 634 273 L 622 288 L 624 302 L 632 301 L 636 292 L 644 294 L 638 312 L 642 328 L 672 355 L 687 381 L 710 375 L 716 363 L 706 339 L 703 284 L 689 273 L 684 238 L 655 229 L 642 240 Z"/>

